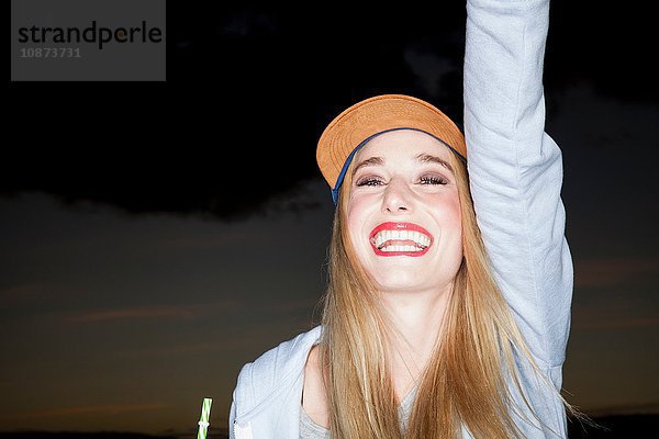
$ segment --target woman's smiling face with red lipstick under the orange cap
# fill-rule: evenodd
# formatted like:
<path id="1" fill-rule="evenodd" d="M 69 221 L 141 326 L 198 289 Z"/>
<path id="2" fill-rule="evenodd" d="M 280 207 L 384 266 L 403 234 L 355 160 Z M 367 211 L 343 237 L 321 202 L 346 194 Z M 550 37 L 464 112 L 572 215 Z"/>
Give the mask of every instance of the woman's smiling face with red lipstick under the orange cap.
<path id="1" fill-rule="evenodd" d="M 451 154 L 425 133 L 396 130 L 354 157 L 348 235 L 379 291 L 453 285 L 462 234 Z"/>

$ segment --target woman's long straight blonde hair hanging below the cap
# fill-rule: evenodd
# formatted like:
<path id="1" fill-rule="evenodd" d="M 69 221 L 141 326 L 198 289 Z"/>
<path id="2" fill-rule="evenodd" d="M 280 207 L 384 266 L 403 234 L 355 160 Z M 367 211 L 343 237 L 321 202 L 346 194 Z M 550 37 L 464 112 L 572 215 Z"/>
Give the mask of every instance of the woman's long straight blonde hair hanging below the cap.
<path id="1" fill-rule="evenodd" d="M 505 374 L 511 372 L 524 395 L 515 354 L 528 361 L 571 415 L 587 418 L 565 401 L 534 361 L 490 271 L 466 166 L 454 154 L 450 156 L 461 207 L 463 258 L 447 303 L 440 339 L 420 378 L 405 434 L 400 427 L 388 360 L 388 336 L 392 331 L 402 335 L 391 324 L 350 245 L 345 221 L 353 166 L 346 172 L 334 217 L 319 347 L 333 439 L 458 438 L 462 425 L 474 438 L 522 438 L 511 415 L 515 407 Z"/>

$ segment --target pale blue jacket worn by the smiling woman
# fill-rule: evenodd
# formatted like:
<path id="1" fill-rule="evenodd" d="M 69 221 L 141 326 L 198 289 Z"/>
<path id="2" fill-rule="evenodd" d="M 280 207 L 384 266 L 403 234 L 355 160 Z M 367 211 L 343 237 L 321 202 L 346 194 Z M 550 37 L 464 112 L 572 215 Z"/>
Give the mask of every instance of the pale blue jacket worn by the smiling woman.
<path id="1" fill-rule="evenodd" d="M 544 132 L 548 14 L 548 0 L 467 1 L 465 136 L 477 221 L 494 277 L 536 361 L 560 390 L 573 272 L 560 199 L 561 151 Z M 321 330 L 303 333 L 243 367 L 230 438 L 300 437 L 304 364 Z M 515 417 L 522 431 L 528 438 L 566 438 L 561 401 L 527 369 L 522 373 L 529 403 L 558 435 L 533 418 Z M 462 435 L 471 438 L 466 429 Z"/>

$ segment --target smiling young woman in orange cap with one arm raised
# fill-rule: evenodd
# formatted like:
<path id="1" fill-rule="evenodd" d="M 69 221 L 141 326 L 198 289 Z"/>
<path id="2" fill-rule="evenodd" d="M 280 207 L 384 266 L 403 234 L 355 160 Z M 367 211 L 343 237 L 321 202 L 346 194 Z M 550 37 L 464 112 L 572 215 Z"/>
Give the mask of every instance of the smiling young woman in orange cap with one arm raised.
<path id="1" fill-rule="evenodd" d="M 572 261 L 544 132 L 548 0 L 469 0 L 465 130 L 367 99 L 317 146 L 322 324 L 242 369 L 230 437 L 565 438 Z M 465 138 L 467 142 L 465 142 Z"/>

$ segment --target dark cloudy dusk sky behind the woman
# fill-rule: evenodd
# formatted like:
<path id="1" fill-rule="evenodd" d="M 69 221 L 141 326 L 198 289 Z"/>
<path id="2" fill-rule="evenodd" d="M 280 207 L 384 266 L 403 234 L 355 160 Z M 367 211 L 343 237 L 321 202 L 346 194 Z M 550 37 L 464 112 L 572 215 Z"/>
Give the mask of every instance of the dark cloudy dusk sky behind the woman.
<path id="1" fill-rule="evenodd" d="M 224 426 L 239 367 L 317 316 L 324 126 L 382 92 L 461 121 L 465 8 L 449 8 L 168 2 L 167 82 L 10 82 L 0 430 L 192 430 L 204 396 Z M 555 0 L 545 60 L 576 270 L 563 387 L 594 414 L 659 413 L 643 8 Z"/>

